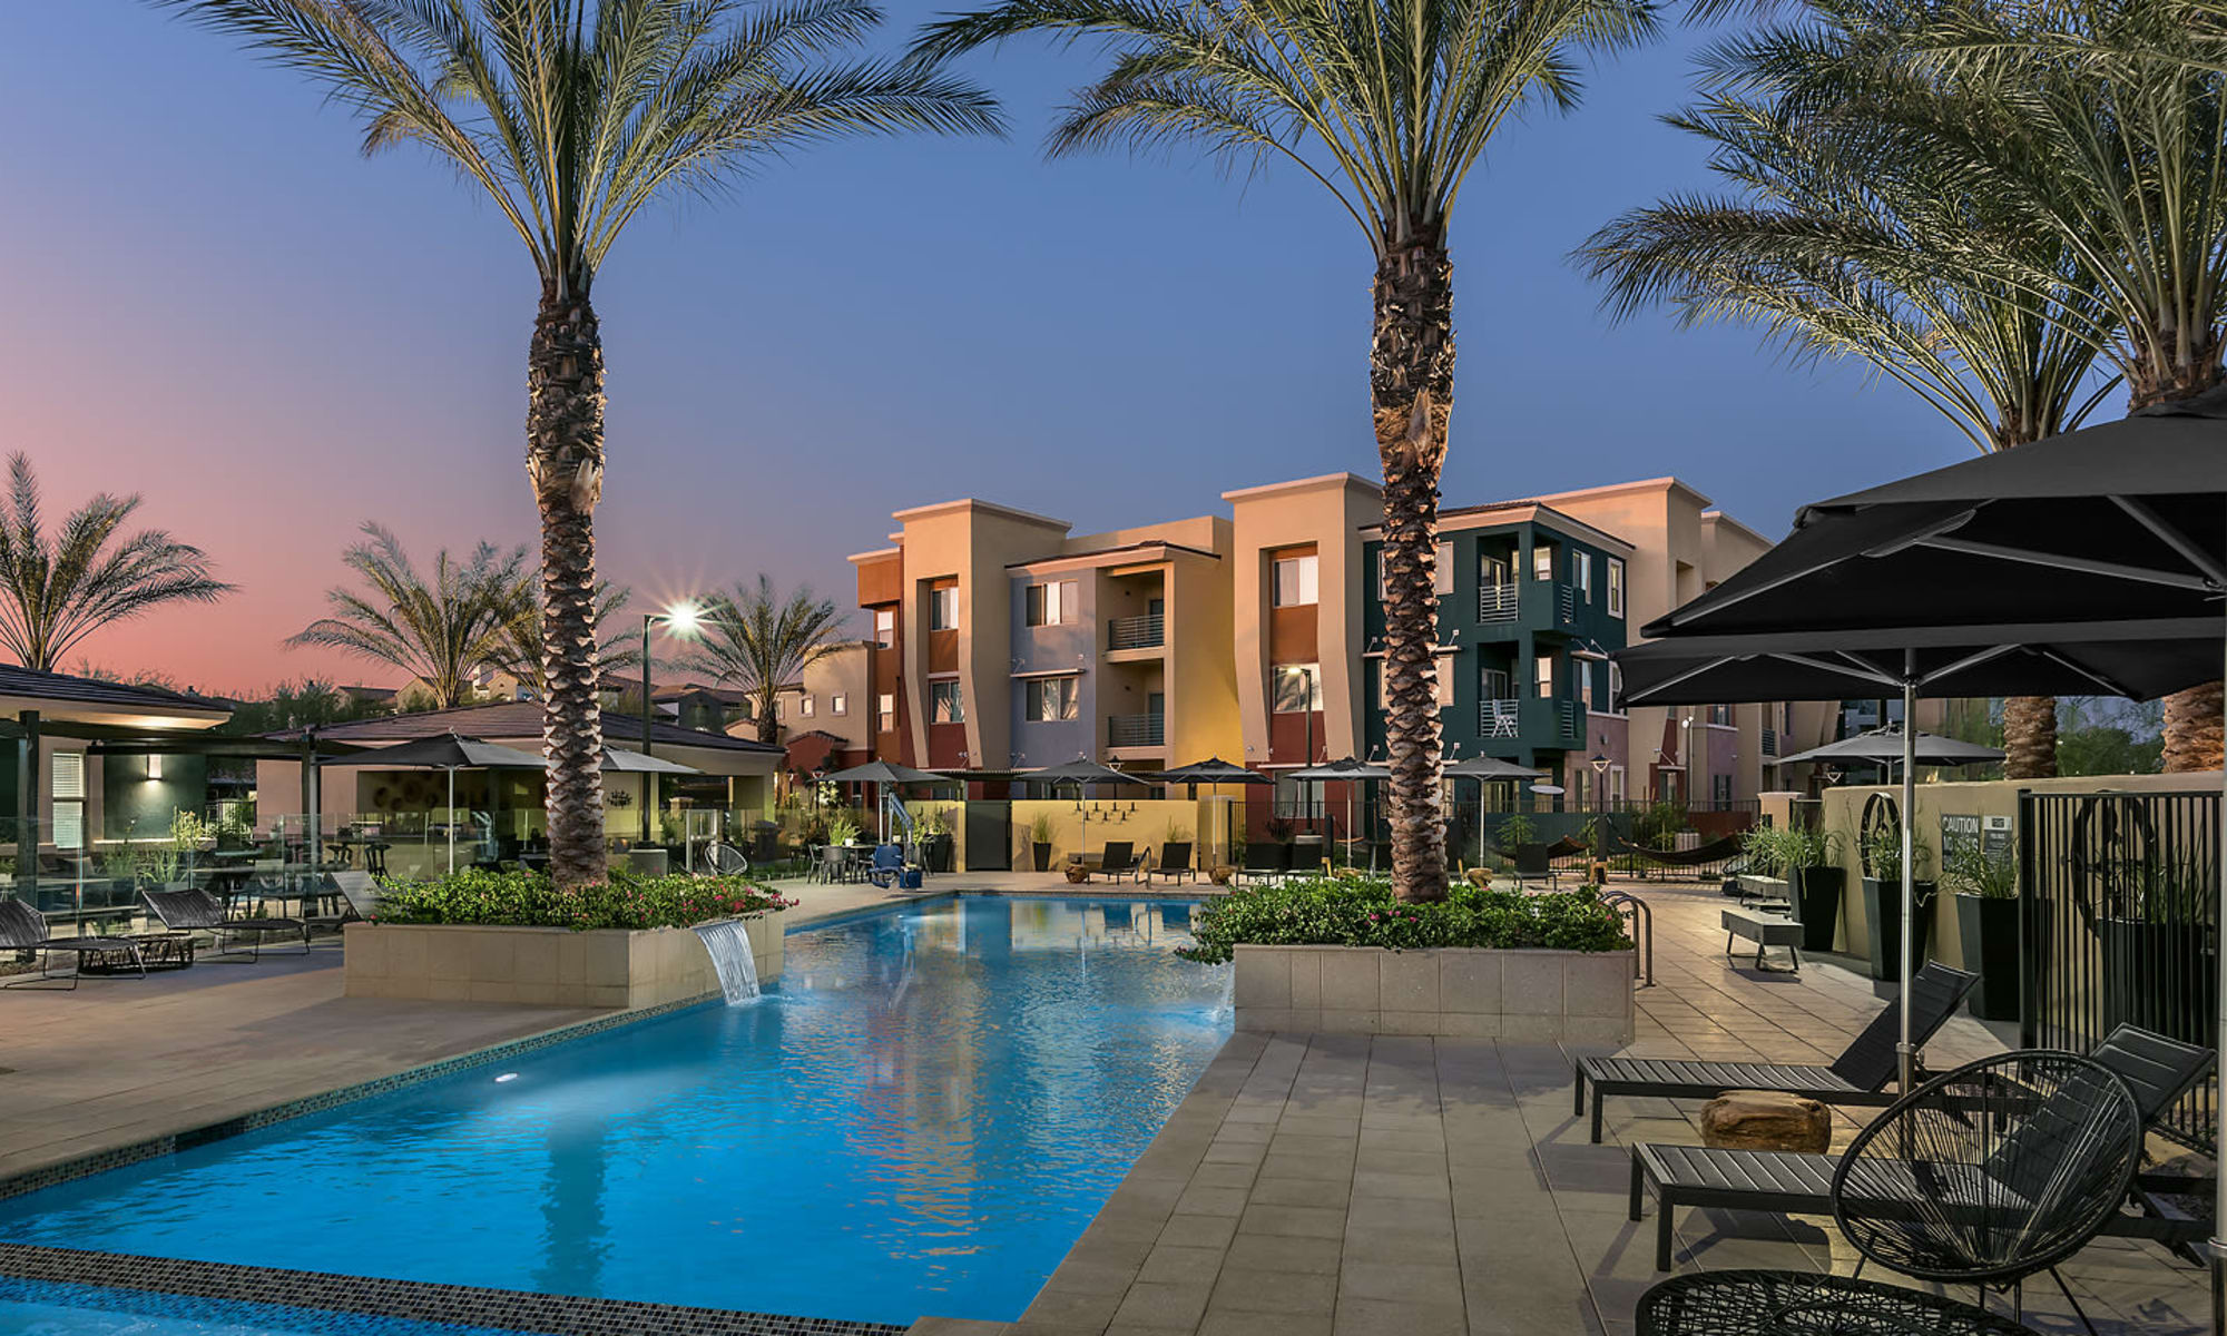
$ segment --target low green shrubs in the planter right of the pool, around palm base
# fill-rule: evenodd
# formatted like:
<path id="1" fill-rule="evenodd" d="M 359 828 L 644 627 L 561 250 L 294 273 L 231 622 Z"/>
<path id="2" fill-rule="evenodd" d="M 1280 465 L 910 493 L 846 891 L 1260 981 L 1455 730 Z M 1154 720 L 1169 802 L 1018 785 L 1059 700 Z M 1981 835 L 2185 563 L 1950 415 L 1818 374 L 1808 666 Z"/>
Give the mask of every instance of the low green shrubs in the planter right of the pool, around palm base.
<path id="1" fill-rule="evenodd" d="M 1223 964 L 1234 946 L 1539 946 L 1621 951 L 1623 920 L 1592 891 L 1521 895 L 1456 884 L 1448 900 L 1403 904 L 1390 882 L 1358 877 L 1247 886 L 1209 904 L 1191 924 L 1196 946 L 1176 955 Z"/>

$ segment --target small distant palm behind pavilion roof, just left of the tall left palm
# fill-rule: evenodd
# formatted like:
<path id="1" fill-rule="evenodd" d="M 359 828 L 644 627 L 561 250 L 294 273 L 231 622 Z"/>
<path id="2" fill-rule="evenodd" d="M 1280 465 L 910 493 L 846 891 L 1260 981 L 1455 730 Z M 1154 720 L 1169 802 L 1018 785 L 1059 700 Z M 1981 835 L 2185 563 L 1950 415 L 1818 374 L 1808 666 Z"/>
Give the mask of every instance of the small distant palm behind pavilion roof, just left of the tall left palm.
<path id="1" fill-rule="evenodd" d="M 532 599 L 526 548 L 501 552 L 481 543 L 468 561 L 454 561 L 443 548 L 428 579 L 390 530 L 365 523 L 363 532 L 367 541 L 341 554 L 363 588 L 327 590 L 332 615 L 287 644 L 345 650 L 401 668 L 439 710 L 470 701 L 472 677 L 501 659 L 503 637 Z"/>

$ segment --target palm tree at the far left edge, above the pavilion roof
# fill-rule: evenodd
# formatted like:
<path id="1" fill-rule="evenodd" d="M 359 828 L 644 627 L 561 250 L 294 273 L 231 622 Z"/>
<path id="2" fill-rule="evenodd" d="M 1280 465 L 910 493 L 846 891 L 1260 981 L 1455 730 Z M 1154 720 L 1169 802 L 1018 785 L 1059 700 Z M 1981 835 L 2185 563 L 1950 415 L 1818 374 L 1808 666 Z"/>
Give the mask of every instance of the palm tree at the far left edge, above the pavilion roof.
<path id="1" fill-rule="evenodd" d="M 16 661 L 56 672 L 78 641 L 165 603 L 214 603 L 234 586 L 209 554 L 167 530 L 125 532 L 138 494 L 100 492 L 47 530 L 31 456 L 11 454 L 9 508 L 0 514 L 0 646 Z"/>

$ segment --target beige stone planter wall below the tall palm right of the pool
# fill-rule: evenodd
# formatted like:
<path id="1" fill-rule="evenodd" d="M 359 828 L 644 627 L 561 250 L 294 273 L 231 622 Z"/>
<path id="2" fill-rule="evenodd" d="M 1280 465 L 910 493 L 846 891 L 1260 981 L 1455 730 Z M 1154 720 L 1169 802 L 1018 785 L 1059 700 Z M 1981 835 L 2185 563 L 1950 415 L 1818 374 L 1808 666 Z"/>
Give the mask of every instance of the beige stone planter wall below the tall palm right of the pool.
<path id="1" fill-rule="evenodd" d="M 1236 1026 L 1632 1042 L 1630 951 L 1238 946 Z"/>

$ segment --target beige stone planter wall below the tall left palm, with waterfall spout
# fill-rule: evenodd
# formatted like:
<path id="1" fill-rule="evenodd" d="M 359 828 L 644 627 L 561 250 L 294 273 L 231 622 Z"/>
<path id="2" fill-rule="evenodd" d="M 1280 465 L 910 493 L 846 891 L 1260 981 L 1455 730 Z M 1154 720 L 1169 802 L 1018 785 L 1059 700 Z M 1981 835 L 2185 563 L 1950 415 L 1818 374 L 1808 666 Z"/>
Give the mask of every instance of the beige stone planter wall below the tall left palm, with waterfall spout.
<path id="1" fill-rule="evenodd" d="M 748 920 L 757 980 L 782 975 L 782 915 Z M 483 929 L 347 924 L 350 998 L 659 1006 L 719 991 L 690 929 Z"/>

